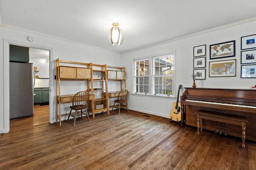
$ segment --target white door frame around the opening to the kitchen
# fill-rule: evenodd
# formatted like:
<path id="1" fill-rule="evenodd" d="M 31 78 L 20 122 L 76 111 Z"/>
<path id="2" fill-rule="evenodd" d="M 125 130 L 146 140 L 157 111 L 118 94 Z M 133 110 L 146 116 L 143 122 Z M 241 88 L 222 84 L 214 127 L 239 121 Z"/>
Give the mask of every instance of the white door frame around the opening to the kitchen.
<path id="1" fill-rule="evenodd" d="M 49 51 L 49 122 L 54 123 L 54 62 L 53 48 L 42 45 L 31 45 L 28 43 L 4 39 L 4 133 L 10 131 L 10 44 L 44 49 Z"/>

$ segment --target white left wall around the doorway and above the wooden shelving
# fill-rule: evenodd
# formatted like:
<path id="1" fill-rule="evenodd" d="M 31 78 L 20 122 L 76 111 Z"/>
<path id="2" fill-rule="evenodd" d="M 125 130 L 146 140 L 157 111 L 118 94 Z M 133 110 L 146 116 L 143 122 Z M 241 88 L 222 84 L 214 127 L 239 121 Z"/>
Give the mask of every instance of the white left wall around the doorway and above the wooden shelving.
<path id="1" fill-rule="evenodd" d="M 28 41 L 26 38 L 28 36 L 32 36 L 34 38 L 34 42 Z M 55 121 L 55 106 L 56 106 L 56 86 L 54 75 L 56 73 L 55 69 L 55 60 L 60 58 L 61 60 L 66 61 L 76 61 L 82 63 L 95 63 L 95 64 L 107 64 L 110 66 L 122 66 L 122 60 L 120 53 L 114 53 L 111 51 L 106 51 L 102 49 L 92 48 L 85 45 L 80 45 L 76 43 L 71 43 L 68 41 L 62 41 L 60 39 L 54 39 L 52 37 L 33 34 L 26 31 L 21 31 L 17 29 L 10 29 L 7 27 L 0 27 L 0 48 L 4 49 L 4 39 L 15 41 L 18 45 L 26 45 L 30 47 L 45 47 L 43 49 L 51 49 L 50 55 L 52 55 L 52 60 L 50 60 L 50 70 L 53 72 L 53 75 L 50 75 L 50 107 L 51 114 L 50 122 Z M 7 120 L 8 117 L 4 117 L 4 110 L 9 106 L 4 106 L 4 83 L 6 83 L 9 79 L 4 76 L 4 51 L 0 53 L 0 79 L 4 80 L 0 82 L 0 133 L 6 133 L 6 124 L 9 123 Z M 50 71 L 50 72 L 51 72 Z M 51 79 L 52 77 L 52 79 Z M 77 86 L 72 87 L 72 83 L 64 85 L 62 87 L 63 91 L 69 93 L 70 90 L 75 90 L 77 92 Z M 74 92 L 73 92 L 74 93 Z M 5 107 L 5 109 L 4 109 Z M 65 106 L 63 106 L 65 107 Z M 5 121 L 4 121 L 5 120 Z"/>

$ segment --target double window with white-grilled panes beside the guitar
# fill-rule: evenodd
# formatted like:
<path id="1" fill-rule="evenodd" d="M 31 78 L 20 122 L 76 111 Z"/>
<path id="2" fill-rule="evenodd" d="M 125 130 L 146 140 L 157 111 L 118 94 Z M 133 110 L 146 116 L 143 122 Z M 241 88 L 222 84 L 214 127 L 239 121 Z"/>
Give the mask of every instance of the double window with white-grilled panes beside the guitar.
<path id="1" fill-rule="evenodd" d="M 173 96 L 175 52 L 134 60 L 133 92 Z"/>

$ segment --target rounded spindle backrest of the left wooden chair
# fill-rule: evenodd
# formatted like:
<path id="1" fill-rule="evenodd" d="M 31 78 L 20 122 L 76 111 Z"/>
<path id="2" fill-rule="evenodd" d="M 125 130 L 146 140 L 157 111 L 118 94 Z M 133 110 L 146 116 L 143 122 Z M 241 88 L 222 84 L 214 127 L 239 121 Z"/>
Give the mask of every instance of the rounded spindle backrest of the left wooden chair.
<path id="1" fill-rule="evenodd" d="M 72 99 L 73 107 L 77 108 L 86 108 L 88 106 L 88 101 L 90 98 L 90 94 L 86 91 L 77 92 Z"/>

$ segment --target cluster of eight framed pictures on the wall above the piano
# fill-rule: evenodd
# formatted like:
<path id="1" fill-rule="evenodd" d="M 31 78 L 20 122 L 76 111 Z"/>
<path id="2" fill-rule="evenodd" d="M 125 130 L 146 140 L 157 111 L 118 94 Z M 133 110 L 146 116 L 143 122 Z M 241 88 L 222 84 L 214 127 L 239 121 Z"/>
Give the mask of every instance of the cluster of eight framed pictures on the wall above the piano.
<path id="1" fill-rule="evenodd" d="M 241 37 L 241 77 L 256 78 L 256 34 Z M 206 45 L 194 47 L 193 75 L 196 80 L 206 79 Z M 236 76 L 236 59 L 217 60 L 236 57 L 236 41 L 212 44 L 209 46 L 209 77 Z"/>

